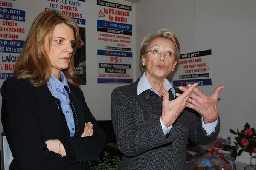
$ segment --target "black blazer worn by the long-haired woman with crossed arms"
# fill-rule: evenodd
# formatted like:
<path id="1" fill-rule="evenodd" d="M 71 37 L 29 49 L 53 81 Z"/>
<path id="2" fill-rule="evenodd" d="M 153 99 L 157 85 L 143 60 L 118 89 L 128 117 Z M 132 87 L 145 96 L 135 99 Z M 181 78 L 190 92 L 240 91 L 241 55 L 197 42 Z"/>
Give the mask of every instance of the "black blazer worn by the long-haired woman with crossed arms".
<path id="1" fill-rule="evenodd" d="M 70 98 L 77 113 L 77 136 L 70 137 L 67 122 L 47 85 L 34 87 L 28 79 L 10 78 L 1 88 L 2 124 L 17 164 L 13 170 L 86 170 L 105 143 L 79 87 L 69 84 Z M 76 118 L 74 117 L 75 121 Z M 93 123 L 93 136 L 80 137 L 84 124 Z M 49 151 L 44 141 L 59 139 L 67 157 Z"/>

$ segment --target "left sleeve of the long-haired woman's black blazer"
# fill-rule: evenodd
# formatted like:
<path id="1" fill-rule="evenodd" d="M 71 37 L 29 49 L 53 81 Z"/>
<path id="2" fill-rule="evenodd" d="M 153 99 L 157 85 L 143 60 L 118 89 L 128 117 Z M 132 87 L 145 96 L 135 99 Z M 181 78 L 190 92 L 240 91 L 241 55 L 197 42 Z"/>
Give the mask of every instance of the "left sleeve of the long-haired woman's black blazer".
<path id="1" fill-rule="evenodd" d="M 85 170 L 47 149 L 35 114 L 32 85 L 26 79 L 7 79 L 1 88 L 2 124 L 12 154 L 21 170 Z"/>

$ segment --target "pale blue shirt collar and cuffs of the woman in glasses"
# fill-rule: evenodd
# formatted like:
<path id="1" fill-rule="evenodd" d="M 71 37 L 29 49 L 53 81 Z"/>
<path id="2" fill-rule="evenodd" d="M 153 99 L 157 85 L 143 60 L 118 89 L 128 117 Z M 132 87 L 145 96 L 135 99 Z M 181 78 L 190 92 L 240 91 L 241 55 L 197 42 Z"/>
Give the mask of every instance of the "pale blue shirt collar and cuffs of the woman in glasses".
<path id="1" fill-rule="evenodd" d="M 148 79 L 144 72 L 142 77 L 140 78 L 140 81 L 138 82 L 137 95 L 141 94 L 143 91 L 148 90 L 148 89 L 150 89 L 151 91 L 154 91 L 154 93 L 158 94 L 158 92 L 154 88 L 152 88 L 151 84 L 148 82 Z M 172 87 L 171 83 L 167 79 L 164 80 L 164 89 L 166 91 L 169 91 L 171 89 L 172 94 L 175 97 L 174 88 Z M 158 96 L 160 96 L 160 95 L 158 94 Z M 202 121 L 202 127 L 204 128 L 207 136 L 211 135 L 211 133 L 215 131 L 215 127 L 218 124 L 218 119 L 215 122 L 205 124 L 204 119 L 202 117 L 201 121 Z M 170 127 L 166 127 L 163 124 L 161 118 L 160 118 L 160 123 L 161 123 L 162 129 L 163 129 L 163 133 L 165 135 L 167 133 L 169 133 L 172 128 L 172 125 Z"/>

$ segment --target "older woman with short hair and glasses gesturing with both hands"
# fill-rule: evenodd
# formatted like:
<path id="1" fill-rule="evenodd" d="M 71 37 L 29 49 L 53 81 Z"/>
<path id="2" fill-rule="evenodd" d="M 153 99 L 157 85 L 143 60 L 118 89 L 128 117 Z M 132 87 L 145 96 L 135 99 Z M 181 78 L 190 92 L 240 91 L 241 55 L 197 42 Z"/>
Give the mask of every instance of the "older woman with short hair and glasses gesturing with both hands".
<path id="1" fill-rule="evenodd" d="M 180 59 L 176 36 L 160 29 L 144 37 L 140 57 L 144 74 L 111 94 L 119 170 L 186 170 L 186 142 L 208 144 L 220 130 L 218 86 L 212 96 L 196 87 L 173 88 L 166 77 Z M 177 97 L 175 97 L 175 95 Z"/>

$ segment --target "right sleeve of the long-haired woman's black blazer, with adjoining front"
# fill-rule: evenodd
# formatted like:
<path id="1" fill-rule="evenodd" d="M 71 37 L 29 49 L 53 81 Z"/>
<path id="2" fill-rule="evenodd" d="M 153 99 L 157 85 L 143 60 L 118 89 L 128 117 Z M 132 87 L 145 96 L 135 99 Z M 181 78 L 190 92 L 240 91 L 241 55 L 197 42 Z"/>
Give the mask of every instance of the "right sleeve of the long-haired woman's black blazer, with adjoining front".
<path id="1" fill-rule="evenodd" d="M 83 92 L 80 88 L 76 87 L 73 93 L 73 102 L 75 107 L 82 111 L 84 115 L 79 113 L 79 134 L 77 137 L 67 137 L 61 138 L 61 142 L 64 143 L 64 147 L 66 151 L 74 154 L 74 162 L 80 161 L 91 161 L 95 160 L 99 154 L 102 152 L 104 144 L 105 144 L 105 133 L 98 126 L 95 118 L 93 117 L 90 109 L 88 108 Z M 81 109 L 82 108 L 82 109 Z M 81 116 L 86 119 L 81 119 Z M 81 137 L 81 134 L 84 131 L 84 124 L 91 122 L 93 124 L 93 135 L 87 137 Z M 69 148 L 70 150 L 67 150 Z M 68 153 L 67 153 L 68 156 Z"/>

